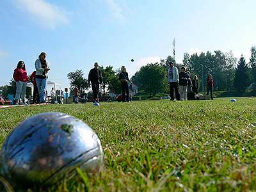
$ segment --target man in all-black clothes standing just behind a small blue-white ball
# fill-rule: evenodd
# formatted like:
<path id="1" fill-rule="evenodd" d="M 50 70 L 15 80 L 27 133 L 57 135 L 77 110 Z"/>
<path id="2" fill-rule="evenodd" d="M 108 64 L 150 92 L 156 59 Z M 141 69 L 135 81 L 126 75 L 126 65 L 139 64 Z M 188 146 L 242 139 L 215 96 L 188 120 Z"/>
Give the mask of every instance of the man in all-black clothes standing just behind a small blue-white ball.
<path id="1" fill-rule="evenodd" d="M 94 63 L 94 68 L 89 72 L 89 85 L 92 84 L 93 102 L 99 102 L 100 84 L 102 84 L 102 73 L 99 70 L 98 63 Z"/>

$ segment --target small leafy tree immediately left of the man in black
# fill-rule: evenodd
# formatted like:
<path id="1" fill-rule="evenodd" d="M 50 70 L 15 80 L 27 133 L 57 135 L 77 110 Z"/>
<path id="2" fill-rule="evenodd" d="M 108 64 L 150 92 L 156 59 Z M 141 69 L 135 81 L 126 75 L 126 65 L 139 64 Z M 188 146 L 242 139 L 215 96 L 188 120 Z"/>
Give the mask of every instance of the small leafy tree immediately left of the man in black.
<path id="1" fill-rule="evenodd" d="M 67 74 L 70 81 L 70 91 L 73 91 L 75 87 L 77 87 L 80 92 L 83 90 L 88 90 L 89 83 L 88 80 L 83 77 L 83 75 L 83 71 L 78 69 L 75 72 L 69 72 Z"/>

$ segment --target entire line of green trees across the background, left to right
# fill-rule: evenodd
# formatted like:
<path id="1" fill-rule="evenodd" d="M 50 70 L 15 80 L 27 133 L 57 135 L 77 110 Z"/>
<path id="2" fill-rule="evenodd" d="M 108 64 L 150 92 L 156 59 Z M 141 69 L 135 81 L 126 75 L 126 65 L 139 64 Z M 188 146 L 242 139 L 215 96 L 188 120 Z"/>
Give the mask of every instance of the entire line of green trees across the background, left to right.
<path id="1" fill-rule="evenodd" d="M 186 67 L 187 71 L 191 72 L 192 78 L 194 75 L 198 76 L 200 92 L 205 90 L 208 74 L 212 74 L 214 77 L 214 90 L 244 92 L 247 86 L 256 82 L 256 46 L 251 47 L 250 52 L 249 61 L 246 61 L 243 55 L 237 60 L 232 51 L 207 51 L 191 55 L 185 52 L 182 63 L 176 63 L 172 56 L 167 56 L 166 59 L 158 63 L 148 63 L 142 66 L 131 79 L 138 86 L 140 92 L 145 92 L 150 96 L 156 95 L 156 93 L 168 93 L 168 61 L 173 61 L 179 70 L 182 66 Z M 121 85 L 118 81 L 120 69 L 114 70 L 111 65 L 99 68 L 103 77 L 102 94 L 121 93 Z M 88 79 L 84 77 L 83 70 L 69 72 L 67 77 L 70 81 L 71 92 L 75 86 L 80 92 L 88 90 L 89 83 Z M 13 80 L 11 80 L 9 86 L 0 86 L 4 97 L 13 92 L 13 85 Z"/>

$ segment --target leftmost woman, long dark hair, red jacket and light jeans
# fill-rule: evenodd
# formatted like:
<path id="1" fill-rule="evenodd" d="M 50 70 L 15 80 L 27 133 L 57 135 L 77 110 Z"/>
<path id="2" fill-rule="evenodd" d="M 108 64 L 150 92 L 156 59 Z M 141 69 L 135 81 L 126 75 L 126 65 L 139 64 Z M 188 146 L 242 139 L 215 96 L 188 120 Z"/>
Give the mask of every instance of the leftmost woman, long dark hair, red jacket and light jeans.
<path id="1" fill-rule="evenodd" d="M 26 71 L 24 61 L 19 61 L 17 68 L 15 68 L 14 70 L 13 79 L 16 81 L 15 104 L 19 105 L 20 93 L 21 93 L 21 99 L 23 100 L 23 103 L 26 104 L 25 95 L 26 95 L 26 87 L 28 83 L 28 76 L 27 76 L 27 71 Z"/>

